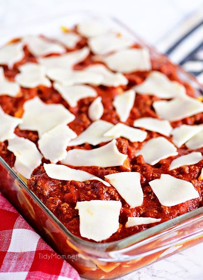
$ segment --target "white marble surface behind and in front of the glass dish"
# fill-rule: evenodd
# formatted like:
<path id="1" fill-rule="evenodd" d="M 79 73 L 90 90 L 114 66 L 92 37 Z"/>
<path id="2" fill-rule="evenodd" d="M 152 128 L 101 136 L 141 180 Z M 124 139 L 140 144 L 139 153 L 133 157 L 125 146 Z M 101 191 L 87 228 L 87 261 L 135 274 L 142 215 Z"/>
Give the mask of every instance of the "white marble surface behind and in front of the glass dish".
<path id="1" fill-rule="evenodd" d="M 96 10 L 116 16 L 147 42 L 158 47 L 164 36 L 196 9 L 203 0 L 0 0 L 0 34 L 13 24 L 27 25 L 70 11 Z M 177 253 L 123 280 L 202 280 L 203 243 Z"/>

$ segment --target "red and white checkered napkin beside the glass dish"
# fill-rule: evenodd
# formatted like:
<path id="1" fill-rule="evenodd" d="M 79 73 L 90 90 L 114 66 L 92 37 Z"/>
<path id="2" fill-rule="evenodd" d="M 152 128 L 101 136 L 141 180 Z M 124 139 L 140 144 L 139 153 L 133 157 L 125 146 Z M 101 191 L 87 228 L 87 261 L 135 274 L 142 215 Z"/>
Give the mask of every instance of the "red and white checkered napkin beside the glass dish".
<path id="1" fill-rule="evenodd" d="M 79 280 L 0 193 L 0 279 Z"/>

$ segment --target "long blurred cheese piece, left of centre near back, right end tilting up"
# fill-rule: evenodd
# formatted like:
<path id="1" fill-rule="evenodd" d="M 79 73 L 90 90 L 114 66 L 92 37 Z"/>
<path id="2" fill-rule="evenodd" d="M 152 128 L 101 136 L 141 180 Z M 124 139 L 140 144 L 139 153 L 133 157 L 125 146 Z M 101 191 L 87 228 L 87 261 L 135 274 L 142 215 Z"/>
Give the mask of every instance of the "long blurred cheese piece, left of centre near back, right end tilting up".
<path id="1" fill-rule="evenodd" d="M 90 50 L 87 47 L 81 48 L 76 51 L 62 54 L 60 56 L 50 56 L 37 59 L 38 63 L 49 68 L 62 68 L 62 69 L 72 69 L 72 67 L 86 59 L 89 55 Z"/>

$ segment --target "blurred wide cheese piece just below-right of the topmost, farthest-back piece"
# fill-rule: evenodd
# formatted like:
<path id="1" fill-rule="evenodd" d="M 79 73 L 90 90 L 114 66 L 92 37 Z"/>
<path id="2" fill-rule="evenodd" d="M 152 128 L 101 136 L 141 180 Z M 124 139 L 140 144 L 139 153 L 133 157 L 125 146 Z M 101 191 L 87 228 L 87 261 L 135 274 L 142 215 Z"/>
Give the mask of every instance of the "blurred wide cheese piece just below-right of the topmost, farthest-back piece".
<path id="1" fill-rule="evenodd" d="M 116 33 L 104 33 L 88 39 L 88 45 L 93 53 L 105 54 L 128 48 L 133 44 L 129 38 Z"/>

